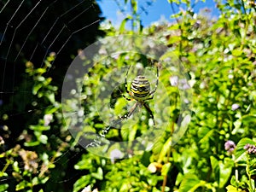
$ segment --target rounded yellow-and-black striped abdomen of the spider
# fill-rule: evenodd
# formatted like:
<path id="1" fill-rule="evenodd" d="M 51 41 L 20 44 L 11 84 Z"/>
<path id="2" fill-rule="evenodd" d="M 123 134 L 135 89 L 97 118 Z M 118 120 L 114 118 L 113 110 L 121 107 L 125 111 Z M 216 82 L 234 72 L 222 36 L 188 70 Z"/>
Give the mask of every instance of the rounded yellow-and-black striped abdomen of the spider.
<path id="1" fill-rule="evenodd" d="M 144 76 L 137 76 L 136 79 L 133 79 L 131 82 L 131 92 L 133 96 L 137 97 L 139 100 L 147 97 L 150 92 L 150 84 L 148 79 Z"/>

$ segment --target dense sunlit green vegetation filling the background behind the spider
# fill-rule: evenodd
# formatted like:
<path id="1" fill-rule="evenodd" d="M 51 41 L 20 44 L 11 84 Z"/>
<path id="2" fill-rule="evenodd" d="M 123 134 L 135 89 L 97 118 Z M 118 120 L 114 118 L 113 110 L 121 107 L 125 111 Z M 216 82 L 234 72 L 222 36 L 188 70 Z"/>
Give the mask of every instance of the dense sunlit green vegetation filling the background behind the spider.
<path id="1" fill-rule="evenodd" d="M 102 23 L 106 38 L 94 44 L 97 54 L 80 51 L 81 68 L 67 73 L 62 88 L 47 73 L 54 53 L 44 67 L 26 61 L 24 82 L 34 82 L 30 102 L 40 110 L 12 148 L 3 125 L 0 191 L 255 191 L 255 4 L 218 2 L 220 15 L 212 19 L 208 10 L 195 14 L 189 2 L 170 1 L 170 9 L 186 9 L 172 23 L 143 28 L 137 2 L 125 3 L 131 15 L 119 28 Z M 143 71 L 152 89 L 160 68 L 160 86 L 148 101 L 155 127 L 144 108 L 112 123 L 134 103 L 122 96 L 128 66 L 129 84 Z M 87 148 L 104 129 L 101 145 Z"/>

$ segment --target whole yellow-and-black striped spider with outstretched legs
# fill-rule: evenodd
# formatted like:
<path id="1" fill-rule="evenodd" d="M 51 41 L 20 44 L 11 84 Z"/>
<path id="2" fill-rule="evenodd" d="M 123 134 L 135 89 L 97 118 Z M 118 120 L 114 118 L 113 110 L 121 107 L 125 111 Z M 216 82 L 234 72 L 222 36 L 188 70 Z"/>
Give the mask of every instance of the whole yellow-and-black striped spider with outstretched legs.
<path id="1" fill-rule="evenodd" d="M 131 67 L 131 66 L 130 66 Z M 154 115 L 151 111 L 151 109 L 148 106 L 148 103 L 146 102 L 147 100 L 151 100 L 154 97 L 154 92 L 157 89 L 158 83 L 159 83 L 159 68 L 157 68 L 156 72 L 156 83 L 154 86 L 154 90 L 150 90 L 150 83 L 148 79 L 145 76 L 138 75 L 135 79 L 132 80 L 131 82 L 131 90 L 128 90 L 128 85 L 127 85 L 127 76 L 130 70 L 130 67 L 128 68 L 126 75 L 125 75 L 125 90 L 126 93 L 131 96 L 131 98 L 127 98 L 125 95 L 122 95 L 127 101 L 137 101 L 130 111 L 126 113 L 123 117 L 120 117 L 120 119 L 128 119 L 131 117 L 131 114 L 135 112 L 135 109 L 137 107 L 143 108 L 143 106 L 147 109 L 150 117 L 153 119 L 154 122 Z"/>

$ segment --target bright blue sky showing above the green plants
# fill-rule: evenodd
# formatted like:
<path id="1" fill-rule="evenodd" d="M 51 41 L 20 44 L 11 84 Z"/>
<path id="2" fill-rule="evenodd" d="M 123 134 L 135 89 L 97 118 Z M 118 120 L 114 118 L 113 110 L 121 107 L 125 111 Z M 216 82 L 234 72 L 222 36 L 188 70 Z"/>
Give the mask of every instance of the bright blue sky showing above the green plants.
<path id="1" fill-rule="evenodd" d="M 119 11 L 119 6 L 116 2 L 123 3 L 124 0 L 97 0 L 97 3 L 102 9 L 102 16 L 106 17 L 107 20 L 111 20 L 114 26 L 119 26 L 120 22 L 125 18 Z M 149 26 L 152 22 L 158 21 L 161 18 L 170 20 L 172 15 L 172 9 L 167 0 L 154 0 L 151 5 L 147 5 L 146 0 L 139 0 L 139 5 L 142 5 L 147 11 L 148 15 L 139 9 L 142 14 L 143 26 Z M 122 8 L 124 8 L 122 6 Z M 177 8 L 177 6 L 175 6 Z M 218 10 L 215 8 L 213 0 L 207 0 L 205 3 L 198 2 L 195 5 L 195 12 L 199 12 L 200 9 L 208 8 L 212 10 L 212 16 L 218 16 Z"/>

